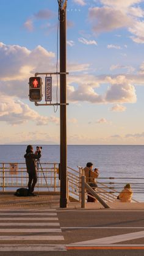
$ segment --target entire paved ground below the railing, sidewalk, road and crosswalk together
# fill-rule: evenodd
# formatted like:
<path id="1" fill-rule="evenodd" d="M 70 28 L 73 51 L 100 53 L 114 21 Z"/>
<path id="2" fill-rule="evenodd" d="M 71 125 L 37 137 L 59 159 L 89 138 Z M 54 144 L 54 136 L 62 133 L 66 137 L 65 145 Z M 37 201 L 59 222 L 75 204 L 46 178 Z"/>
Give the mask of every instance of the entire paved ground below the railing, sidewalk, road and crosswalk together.
<path id="1" fill-rule="evenodd" d="M 0 255 L 143 255 L 144 207 L 95 204 L 62 209 L 59 196 L 0 195 Z"/>

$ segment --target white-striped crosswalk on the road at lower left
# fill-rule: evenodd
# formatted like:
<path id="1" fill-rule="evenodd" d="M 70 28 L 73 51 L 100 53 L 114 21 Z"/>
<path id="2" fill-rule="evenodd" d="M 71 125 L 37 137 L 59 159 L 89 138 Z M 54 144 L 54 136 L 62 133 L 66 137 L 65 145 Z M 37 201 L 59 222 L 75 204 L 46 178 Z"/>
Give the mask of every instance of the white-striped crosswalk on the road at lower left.
<path id="1" fill-rule="evenodd" d="M 67 251 L 56 209 L 0 210 L 0 252 Z"/>

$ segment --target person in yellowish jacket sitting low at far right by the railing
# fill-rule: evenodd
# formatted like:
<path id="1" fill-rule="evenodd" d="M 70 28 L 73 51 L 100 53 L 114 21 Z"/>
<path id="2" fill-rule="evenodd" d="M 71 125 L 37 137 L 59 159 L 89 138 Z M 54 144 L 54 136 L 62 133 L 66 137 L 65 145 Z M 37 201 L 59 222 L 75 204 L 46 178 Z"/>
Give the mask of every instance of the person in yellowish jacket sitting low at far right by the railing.
<path id="1" fill-rule="evenodd" d="M 117 199 L 120 199 L 121 202 L 129 202 L 131 203 L 132 198 L 132 189 L 131 185 L 128 183 L 126 186 L 124 186 L 124 189 L 120 192 L 120 195 L 117 197 Z"/>

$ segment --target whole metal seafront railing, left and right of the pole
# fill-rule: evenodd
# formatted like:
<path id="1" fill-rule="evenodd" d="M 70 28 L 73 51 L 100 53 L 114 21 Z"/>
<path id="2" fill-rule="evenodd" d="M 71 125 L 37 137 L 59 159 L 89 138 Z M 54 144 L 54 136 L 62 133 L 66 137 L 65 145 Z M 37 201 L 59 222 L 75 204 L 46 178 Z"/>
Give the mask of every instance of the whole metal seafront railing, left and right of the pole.
<path id="1" fill-rule="evenodd" d="M 12 165 L 17 165 L 17 169 L 12 169 Z M 59 180 L 59 164 L 58 163 L 41 163 L 43 172 L 41 172 L 40 166 L 38 171 L 38 182 L 35 186 L 42 191 L 48 190 L 52 192 L 60 191 L 60 180 Z M 43 177 L 45 174 L 45 178 Z M 82 168 L 77 170 L 67 167 L 67 197 L 68 199 L 77 200 L 81 202 L 81 176 Z M 131 183 L 133 196 L 135 194 L 143 194 L 144 178 L 135 177 L 99 177 L 96 178 L 98 188 L 96 193 L 105 202 L 113 202 L 117 199 L 118 194 L 123 189 L 126 183 Z M 25 163 L 0 163 L 0 191 L 15 191 L 16 188 L 26 187 L 28 183 L 28 174 L 26 172 Z M 136 187 L 135 187 L 136 186 Z M 85 191 L 86 196 L 86 191 Z M 132 199 L 132 202 L 138 202 Z"/>

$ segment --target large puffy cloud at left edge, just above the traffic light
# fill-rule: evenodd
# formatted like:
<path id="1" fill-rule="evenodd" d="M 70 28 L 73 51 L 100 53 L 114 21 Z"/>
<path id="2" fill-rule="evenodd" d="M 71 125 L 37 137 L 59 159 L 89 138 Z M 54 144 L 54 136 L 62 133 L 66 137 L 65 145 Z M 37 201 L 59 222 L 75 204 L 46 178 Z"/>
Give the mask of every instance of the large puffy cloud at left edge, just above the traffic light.
<path id="1" fill-rule="evenodd" d="M 19 45 L 0 43 L 0 77 L 1 81 L 24 80 L 35 71 L 45 69 L 45 63 L 55 57 L 52 52 L 38 45 L 30 51 Z"/>

